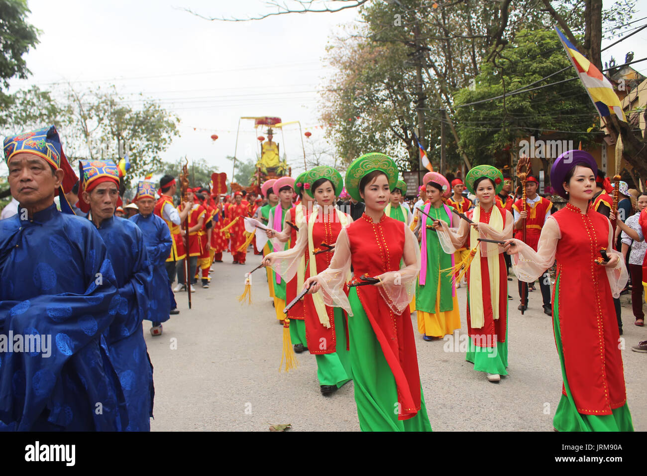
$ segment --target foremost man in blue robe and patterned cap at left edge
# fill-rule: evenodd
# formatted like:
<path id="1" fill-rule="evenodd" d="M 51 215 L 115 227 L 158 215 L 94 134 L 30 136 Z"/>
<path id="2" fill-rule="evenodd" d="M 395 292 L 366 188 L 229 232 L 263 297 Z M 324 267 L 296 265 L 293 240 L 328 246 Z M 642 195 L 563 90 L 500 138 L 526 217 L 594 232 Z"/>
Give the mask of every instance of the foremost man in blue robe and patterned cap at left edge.
<path id="1" fill-rule="evenodd" d="M 33 352 L 0 343 L 0 430 L 126 429 L 124 394 L 102 337 L 121 318 L 121 298 L 104 240 L 63 195 L 77 177 L 58 132 L 7 137 L 4 152 L 20 205 L 0 221 L 0 329 L 3 337 L 38 339 Z M 54 204 L 57 193 L 65 213 Z"/>

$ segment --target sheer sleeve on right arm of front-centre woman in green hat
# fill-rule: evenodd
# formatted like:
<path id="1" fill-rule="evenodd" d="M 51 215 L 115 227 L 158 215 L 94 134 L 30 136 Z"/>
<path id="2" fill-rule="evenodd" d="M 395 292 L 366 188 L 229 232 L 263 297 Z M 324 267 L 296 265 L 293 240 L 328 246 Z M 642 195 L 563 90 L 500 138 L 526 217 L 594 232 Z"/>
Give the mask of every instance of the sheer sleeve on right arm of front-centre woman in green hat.
<path id="1" fill-rule="evenodd" d="M 415 294 L 415 281 L 420 273 L 420 247 L 413 232 L 404 226 L 404 264 L 398 271 L 389 271 L 380 275 L 380 284 L 376 284 L 384 302 L 391 311 L 401 314 L 408 308 Z"/>

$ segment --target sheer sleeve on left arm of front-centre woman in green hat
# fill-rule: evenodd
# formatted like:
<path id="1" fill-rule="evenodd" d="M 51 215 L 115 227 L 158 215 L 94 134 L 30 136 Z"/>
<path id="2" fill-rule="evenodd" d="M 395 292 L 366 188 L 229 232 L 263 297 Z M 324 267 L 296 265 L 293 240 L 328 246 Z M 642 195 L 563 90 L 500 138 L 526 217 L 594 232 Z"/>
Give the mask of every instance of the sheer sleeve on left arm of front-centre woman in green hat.
<path id="1" fill-rule="evenodd" d="M 334 255 L 330 266 L 316 275 L 316 282 L 320 286 L 323 302 L 326 306 L 342 308 L 348 315 L 353 315 L 351 303 L 344 292 L 344 284 L 351 273 L 351 245 L 348 234 L 342 228 L 334 244 Z"/>

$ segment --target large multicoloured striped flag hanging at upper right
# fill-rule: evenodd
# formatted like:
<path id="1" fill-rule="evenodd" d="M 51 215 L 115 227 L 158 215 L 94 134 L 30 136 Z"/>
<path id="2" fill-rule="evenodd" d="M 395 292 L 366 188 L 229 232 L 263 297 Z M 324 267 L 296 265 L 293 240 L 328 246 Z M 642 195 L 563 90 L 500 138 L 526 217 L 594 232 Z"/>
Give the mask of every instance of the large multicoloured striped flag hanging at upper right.
<path id="1" fill-rule="evenodd" d="M 591 101 L 593 101 L 593 104 L 598 109 L 600 117 L 609 117 L 611 114 L 615 114 L 618 119 L 627 122 L 627 118 L 622 110 L 622 104 L 620 104 L 620 98 L 613 90 L 613 86 L 609 80 L 582 53 L 577 51 L 573 43 L 568 41 L 564 34 L 560 32 L 559 28 L 554 28 L 560 37 L 560 41 L 562 41 L 562 45 L 571 63 L 573 63 L 573 67 L 575 67 L 577 74 L 580 76 L 580 80 L 584 84 L 584 89 L 589 93 L 589 98 L 591 98 Z"/>

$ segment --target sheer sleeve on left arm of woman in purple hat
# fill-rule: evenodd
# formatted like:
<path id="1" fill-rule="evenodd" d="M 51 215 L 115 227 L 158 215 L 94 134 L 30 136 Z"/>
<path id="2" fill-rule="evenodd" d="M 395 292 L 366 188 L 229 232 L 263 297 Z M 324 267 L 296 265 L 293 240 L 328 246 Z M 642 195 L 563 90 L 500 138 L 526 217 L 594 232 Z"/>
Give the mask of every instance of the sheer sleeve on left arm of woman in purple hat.
<path id="1" fill-rule="evenodd" d="M 514 241 L 519 253 L 510 255 L 512 258 L 512 271 L 520 281 L 534 282 L 538 277 L 545 273 L 546 269 L 553 266 L 555 255 L 557 253 L 557 243 L 562 234 L 557 220 L 547 218 L 542 234 L 539 237 L 537 251 L 525 244 L 521 240 Z"/>

